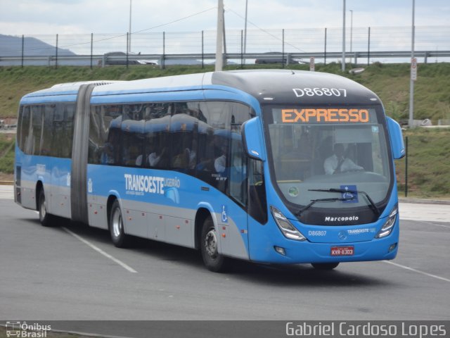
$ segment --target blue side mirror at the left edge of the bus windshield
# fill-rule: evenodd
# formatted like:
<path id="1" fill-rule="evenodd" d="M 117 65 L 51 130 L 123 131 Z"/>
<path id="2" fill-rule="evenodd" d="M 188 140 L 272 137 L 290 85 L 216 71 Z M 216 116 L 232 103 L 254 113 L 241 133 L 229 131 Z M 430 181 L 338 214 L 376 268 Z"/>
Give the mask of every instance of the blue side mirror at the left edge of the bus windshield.
<path id="1" fill-rule="evenodd" d="M 259 117 L 246 121 L 242 126 L 243 146 L 250 158 L 265 161 L 264 137 Z"/>

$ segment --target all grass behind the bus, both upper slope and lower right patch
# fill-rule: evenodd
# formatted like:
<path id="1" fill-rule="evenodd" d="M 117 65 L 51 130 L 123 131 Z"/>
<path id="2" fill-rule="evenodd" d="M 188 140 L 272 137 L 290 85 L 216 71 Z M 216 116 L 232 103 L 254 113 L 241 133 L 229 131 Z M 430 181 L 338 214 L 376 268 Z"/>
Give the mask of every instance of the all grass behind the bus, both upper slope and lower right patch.
<path id="1" fill-rule="evenodd" d="M 245 68 L 275 68 L 280 65 L 246 65 Z M 237 65 L 227 70 L 239 69 Z M 309 69 L 307 65 L 290 65 L 292 69 Z M 349 67 L 347 66 L 347 69 Z M 0 118 L 15 117 L 20 97 L 29 92 L 51 87 L 61 82 L 82 80 L 137 80 L 147 77 L 202 73 L 214 70 L 213 66 L 170 66 L 162 70 L 154 66 L 134 65 L 106 68 L 86 67 L 9 67 L 0 68 Z M 409 65 L 370 65 L 359 75 L 342 74 L 340 65 L 316 65 L 316 71 L 336 73 L 351 78 L 370 88 L 380 96 L 387 115 L 396 120 L 408 118 Z M 439 119 L 450 119 L 450 63 L 420 64 L 415 84 L 414 118 L 430 118 L 433 124 Z M 408 130 L 409 174 L 408 196 L 450 198 L 450 130 Z M 13 172 L 13 137 L 0 134 L 1 173 Z M 404 194 L 405 159 L 397 161 L 399 194 Z M 11 175 L 9 175 L 11 177 Z"/>

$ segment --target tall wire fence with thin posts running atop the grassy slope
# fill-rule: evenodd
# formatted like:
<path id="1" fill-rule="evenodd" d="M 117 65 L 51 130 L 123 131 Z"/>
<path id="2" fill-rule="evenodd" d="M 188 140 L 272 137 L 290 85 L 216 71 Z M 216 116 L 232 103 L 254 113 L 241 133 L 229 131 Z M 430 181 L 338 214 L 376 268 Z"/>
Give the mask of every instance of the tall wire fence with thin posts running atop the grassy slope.
<path id="1" fill-rule="evenodd" d="M 389 62 L 409 62 L 411 27 L 353 27 L 347 28 L 346 35 L 349 62 L 371 63 L 386 58 Z M 215 31 L 1 37 L 0 65 L 98 64 L 108 52 L 128 52 L 128 39 L 131 59 L 201 58 L 214 62 L 216 44 Z M 246 40 L 243 30 L 226 30 L 225 42 L 226 58 L 236 63 L 255 63 L 255 58 L 268 52 L 306 58 L 306 62 L 309 56 L 315 56 L 318 63 L 342 59 L 342 27 L 248 30 Z M 416 27 L 415 49 L 423 58 L 419 62 L 450 61 L 450 26 Z"/>

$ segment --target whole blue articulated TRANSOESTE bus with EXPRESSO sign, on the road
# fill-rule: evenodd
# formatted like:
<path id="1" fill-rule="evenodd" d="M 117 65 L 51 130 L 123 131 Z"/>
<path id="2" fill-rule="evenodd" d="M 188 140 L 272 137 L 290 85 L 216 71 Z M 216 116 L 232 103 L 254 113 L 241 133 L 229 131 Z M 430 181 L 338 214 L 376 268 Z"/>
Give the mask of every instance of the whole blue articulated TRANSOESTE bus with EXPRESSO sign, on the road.
<path id="1" fill-rule="evenodd" d="M 208 269 L 389 260 L 399 125 L 338 75 L 240 70 L 57 84 L 23 96 L 15 201 L 201 251 Z"/>

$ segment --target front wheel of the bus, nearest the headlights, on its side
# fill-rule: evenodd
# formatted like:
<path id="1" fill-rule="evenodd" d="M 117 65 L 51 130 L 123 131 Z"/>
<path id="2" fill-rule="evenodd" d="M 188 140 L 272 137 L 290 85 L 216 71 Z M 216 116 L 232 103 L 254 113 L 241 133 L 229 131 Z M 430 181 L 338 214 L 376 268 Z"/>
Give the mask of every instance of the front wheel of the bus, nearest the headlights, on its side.
<path id="1" fill-rule="evenodd" d="M 214 273 L 223 273 L 228 267 L 228 259 L 218 251 L 219 238 L 214 229 L 212 218 L 208 217 L 203 223 L 200 238 L 200 251 L 202 252 L 203 263 L 208 270 Z"/>

